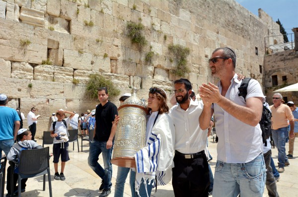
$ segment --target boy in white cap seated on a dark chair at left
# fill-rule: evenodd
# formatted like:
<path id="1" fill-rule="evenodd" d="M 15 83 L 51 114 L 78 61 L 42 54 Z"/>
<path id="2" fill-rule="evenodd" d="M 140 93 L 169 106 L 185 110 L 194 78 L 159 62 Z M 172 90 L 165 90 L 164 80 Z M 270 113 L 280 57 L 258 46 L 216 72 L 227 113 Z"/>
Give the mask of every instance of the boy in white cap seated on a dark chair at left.
<path id="1" fill-rule="evenodd" d="M 17 142 L 16 144 L 13 144 L 13 146 L 11 147 L 11 149 L 7 155 L 8 161 L 11 161 L 11 160 L 15 161 L 17 158 L 19 158 L 22 150 L 42 148 L 41 145 L 38 145 L 34 140 L 31 140 L 32 134 L 27 129 L 20 129 L 19 131 L 17 131 L 17 136 L 20 139 L 20 141 Z M 10 191 L 11 191 L 10 169 L 11 169 L 11 166 L 8 166 L 8 168 L 7 168 L 7 185 L 6 185 L 6 190 L 7 190 L 8 194 L 6 195 L 6 197 L 11 197 L 11 194 L 10 194 Z M 13 173 L 13 191 L 14 191 L 13 195 L 17 194 L 17 186 L 16 186 L 17 179 L 18 179 L 18 175 L 16 173 Z M 28 179 L 21 180 L 21 192 L 22 193 L 25 192 L 27 180 Z"/>

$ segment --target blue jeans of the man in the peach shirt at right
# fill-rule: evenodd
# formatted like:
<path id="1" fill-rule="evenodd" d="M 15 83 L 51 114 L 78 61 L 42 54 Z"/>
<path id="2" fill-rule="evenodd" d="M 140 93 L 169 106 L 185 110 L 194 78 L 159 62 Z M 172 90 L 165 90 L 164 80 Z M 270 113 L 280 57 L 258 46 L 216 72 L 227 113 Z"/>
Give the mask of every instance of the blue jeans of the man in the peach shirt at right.
<path id="1" fill-rule="evenodd" d="M 288 161 L 288 157 L 286 156 L 286 138 L 288 137 L 288 134 L 287 127 L 272 130 L 272 138 L 278 149 L 278 167 L 281 168 L 284 168 L 285 161 Z"/>

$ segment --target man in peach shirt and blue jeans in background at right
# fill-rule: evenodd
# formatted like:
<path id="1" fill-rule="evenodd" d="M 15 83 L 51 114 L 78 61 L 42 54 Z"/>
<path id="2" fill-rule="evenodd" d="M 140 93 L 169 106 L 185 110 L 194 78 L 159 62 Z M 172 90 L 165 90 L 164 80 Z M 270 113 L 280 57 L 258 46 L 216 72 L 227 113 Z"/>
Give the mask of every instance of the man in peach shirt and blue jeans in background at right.
<path id="1" fill-rule="evenodd" d="M 279 173 L 285 171 L 285 166 L 290 165 L 286 156 L 286 139 L 288 133 L 288 120 L 290 121 L 290 139 L 295 137 L 294 134 L 294 116 L 289 106 L 282 103 L 283 96 L 280 93 L 272 97 L 273 105 L 270 106 L 272 113 L 272 138 L 278 149 L 278 169 Z"/>

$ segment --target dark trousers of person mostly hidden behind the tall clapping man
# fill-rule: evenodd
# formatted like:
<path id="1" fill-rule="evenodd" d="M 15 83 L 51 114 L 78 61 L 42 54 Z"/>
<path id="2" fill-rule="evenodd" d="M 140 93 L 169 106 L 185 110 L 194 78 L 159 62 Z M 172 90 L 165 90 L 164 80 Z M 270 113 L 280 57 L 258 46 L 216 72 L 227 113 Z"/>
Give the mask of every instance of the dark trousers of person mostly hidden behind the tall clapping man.
<path id="1" fill-rule="evenodd" d="M 268 196 L 269 197 L 279 197 L 277 193 L 277 187 L 276 187 L 276 182 L 274 175 L 272 173 L 272 168 L 270 166 L 271 162 L 271 150 L 266 152 L 264 154 L 264 160 L 265 160 L 265 165 L 266 165 L 266 188 L 268 190 Z"/>

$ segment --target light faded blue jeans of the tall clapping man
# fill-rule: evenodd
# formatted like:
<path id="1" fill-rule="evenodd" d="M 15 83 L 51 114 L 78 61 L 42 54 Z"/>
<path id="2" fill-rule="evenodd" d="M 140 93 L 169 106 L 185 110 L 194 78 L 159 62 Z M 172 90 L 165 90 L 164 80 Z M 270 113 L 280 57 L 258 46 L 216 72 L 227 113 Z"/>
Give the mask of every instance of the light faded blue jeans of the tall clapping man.
<path id="1" fill-rule="evenodd" d="M 217 161 L 213 197 L 263 197 L 266 166 L 263 154 L 247 163 Z"/>

